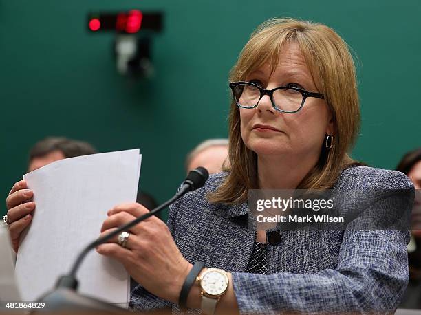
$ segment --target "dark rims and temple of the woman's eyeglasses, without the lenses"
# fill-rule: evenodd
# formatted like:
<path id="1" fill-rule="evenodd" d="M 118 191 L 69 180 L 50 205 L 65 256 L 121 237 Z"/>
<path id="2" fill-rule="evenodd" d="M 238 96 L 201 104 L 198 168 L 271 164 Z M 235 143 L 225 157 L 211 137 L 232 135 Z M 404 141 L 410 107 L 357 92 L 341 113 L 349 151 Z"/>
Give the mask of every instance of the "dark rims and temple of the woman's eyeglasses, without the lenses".
<path id="1" fill-rule="evenodd" d="M 259 98 L 259 100 L 257 101 L 257 103 L 256 103 L 256 105 L 255 105 L 255 106 L 252 106 L 252 107 L 246 107 L 246 106 L 242 106 L 242 105 L 240 105 L 240 104 L 237 102 L 237 99 L 235 98 L 235 88 L 236 88 L 238 85 L 241 85 L 241 84 L 243 84 L 243 85 L 244 85 L 244 84 L 252 85 L 252 86 L 254 86 L 254 87 L 257 87 L 257 89 L 259 89 L 259 91 L 260 91 L 260 98 Z M 269 96 L 269 98 L 270 98 L 270 102 L 272 102 L 272 107 L 273 107 L 275 110 L 280 111 L 281 113 L 296 113 L 296 112 L 298 112 L 298 111 L 301 111 L 301 109 L 302 109 L 302 108 L 303 108 L 303 106 L 304 106 L 304 102 L 305 102 L 305 100 L 306 100 L 307 98 L 321 98 L 322 100 L 324 100 L 324 99 L 325 99 L 325 96 L 324 96 L 323 94 L 321 94 L 321 93 L 309 92 L 309 91 L 306 91 L 305 89 L 300 89 L 299 87 L 275 87 L 274 89 L 262 89 L 261 87 L 259 87 L 259 85 L 255 84 L 255 83 L 247 82 L 247 81 L 230 82 L 230 83 L 229 83 L 229 87 L 230 87 L 230 88 L 231 88 L 231 90 L 233 91 L 233 98 L 234 98 L 234 100 L 235 100 L 235 104 L 237 104 L 237 106 L 238 106 L 238 107 L 241 107 L 241 108 L 248 108 L 248 109 L 251 109 L 251 108 L 255 108 L 255 107 L 257 107 L 257 105 L 259 105 L 259 102 L 260 102 L 261 98 L 263 98 L 263 96 L 265 96 L 265 95 Z M 283 110 L 283 109 L 279 109 L 279 108 L 278 108 L 278 107 L 274 104 L 274 101 L 273 101 L 273 93 L 274 93 L 274 91 L 277 91 L 278 89 L 293 89 L 294 91 L 298 91 L 298 92 L 300 92 L 300 93 L 301 93 L 301 95 L 303 96 L 303 101 L 301 102 L 301 105 L 300 105 L 299 109 L 297 109 L 296 111 L 285 111 L 285 110 Z"/>

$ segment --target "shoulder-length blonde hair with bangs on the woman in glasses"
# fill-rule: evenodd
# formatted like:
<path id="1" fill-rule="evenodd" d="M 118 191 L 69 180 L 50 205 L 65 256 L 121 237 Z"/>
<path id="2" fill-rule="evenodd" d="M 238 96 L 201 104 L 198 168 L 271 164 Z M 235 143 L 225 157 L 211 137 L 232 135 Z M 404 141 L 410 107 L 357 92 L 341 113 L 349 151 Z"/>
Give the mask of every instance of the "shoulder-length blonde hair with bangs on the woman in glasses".
<path id="1" fill-rule="evenodd" d="M 230 81 L 246 77 L 269 63 L 273 72 L 279 53 L 289 43 L 301 49 L 317 90 L 324 94 L 334 120 L 332 149 L 323 149 L 319 162 L 297 188 L 330 188 L 341 171 L 358 164 L 347 152 L 352 148 L 360 124 L 356 71 L 347 44 L 334 30 L 320 23 L 289 18 L 270 19 L 251 34 L 231 69 Z M 232 100 L 229 115 L 230 169 L 224 183 L 208 195 L 210 202 L 235 204 L 248 199 L 248 189 L 256 189 L 257 155 L 241 139 L 239 108 Z M 293 115 L 293 114 L 291 114 Z M 324 144 L 324 142 L 323 142 Z"/>

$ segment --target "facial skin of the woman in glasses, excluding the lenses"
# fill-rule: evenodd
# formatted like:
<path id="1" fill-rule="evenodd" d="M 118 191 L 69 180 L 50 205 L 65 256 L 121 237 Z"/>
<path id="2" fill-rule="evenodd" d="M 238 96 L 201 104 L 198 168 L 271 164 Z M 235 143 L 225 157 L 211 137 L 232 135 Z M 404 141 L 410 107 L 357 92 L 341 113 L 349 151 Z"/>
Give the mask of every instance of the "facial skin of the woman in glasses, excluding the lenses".
<path id="1" fill-rule="evenodd" d="M 279 54 L 279 63 L 270 74 L 270 65 L 263 65 L 246 80 L 263 89 L 299 87 L 319 92 L 305 63 L 299 45 L 286 45 Z M 332 135 L 333 122 L 325 100 L 307 98 L 301 111 L 281 113 L 272 107 L 269 96 L 263 96 L 253 109 L 240 108 L 241 137 L 248 149 L 259 157 L 285 155 L 319 158 L 325 134 Z M 257 124 L 263 125 L 258 127 Z"/>

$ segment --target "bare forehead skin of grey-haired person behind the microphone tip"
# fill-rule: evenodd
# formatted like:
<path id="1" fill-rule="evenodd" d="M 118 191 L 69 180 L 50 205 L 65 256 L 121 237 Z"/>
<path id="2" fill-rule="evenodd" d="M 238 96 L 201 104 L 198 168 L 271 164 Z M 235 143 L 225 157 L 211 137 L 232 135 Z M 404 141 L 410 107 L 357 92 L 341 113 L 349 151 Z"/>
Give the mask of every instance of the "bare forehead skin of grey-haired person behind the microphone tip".
<path id="1" fill-rule="evenodd" d="M 219 173 L 227 157 L 228 146 L 209 146 L 197 153 L 188 165 L 187 171 L 203 166 L 209 174 Z"/>

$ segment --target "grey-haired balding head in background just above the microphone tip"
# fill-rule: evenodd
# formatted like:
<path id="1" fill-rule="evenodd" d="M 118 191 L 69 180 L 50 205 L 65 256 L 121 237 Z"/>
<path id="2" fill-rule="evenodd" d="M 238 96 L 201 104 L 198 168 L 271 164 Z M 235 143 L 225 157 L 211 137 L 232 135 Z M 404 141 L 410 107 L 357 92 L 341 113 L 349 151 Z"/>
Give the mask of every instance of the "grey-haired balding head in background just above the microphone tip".
<path id="1" fill-rule="evenodd" d="M 202 166 L 209 174 L 222 171 L 224 162 L 228 158 L 228 139 L 209 139 L 198 144 L 188 153 L 186 171 Z"/>

